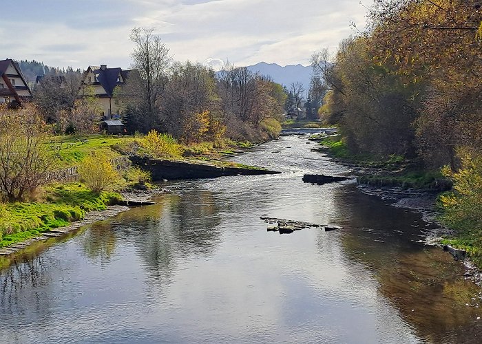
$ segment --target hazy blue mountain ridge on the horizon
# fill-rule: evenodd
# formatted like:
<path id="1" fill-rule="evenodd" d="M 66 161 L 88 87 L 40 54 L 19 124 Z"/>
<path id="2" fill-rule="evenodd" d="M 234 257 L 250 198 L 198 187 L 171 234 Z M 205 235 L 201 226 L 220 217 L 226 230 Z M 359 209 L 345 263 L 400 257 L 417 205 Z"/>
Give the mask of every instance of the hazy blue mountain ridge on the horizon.
<path id="1" fill-rule="evenodd" d="M 259 72 L 265 76 L 271 76 L 275 83 L 280 83 L 289 87 L 291 83 L 300 82 L 304 89 L 310 88 L 311 74 L 313 74 L 313 67 L 304 65 L 287 65 L 281 67 L 276 63 L 260 62 L 255 65 L 248 66 L 251 72 Z"/>

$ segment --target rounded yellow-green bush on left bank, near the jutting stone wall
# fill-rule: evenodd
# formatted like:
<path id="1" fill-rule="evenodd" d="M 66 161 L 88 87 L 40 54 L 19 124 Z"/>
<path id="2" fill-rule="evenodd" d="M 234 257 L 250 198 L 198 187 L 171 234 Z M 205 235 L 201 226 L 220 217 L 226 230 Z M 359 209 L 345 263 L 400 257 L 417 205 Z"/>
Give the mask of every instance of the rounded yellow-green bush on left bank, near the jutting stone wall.
<path id="1" fill-rule="evenodd" d="M 121 184 L 121 175 L 116 171 L 109 158 L 93 153 L 87 156 L 77 168 L 78 175 L 94 193 L 115 190 Z"/>

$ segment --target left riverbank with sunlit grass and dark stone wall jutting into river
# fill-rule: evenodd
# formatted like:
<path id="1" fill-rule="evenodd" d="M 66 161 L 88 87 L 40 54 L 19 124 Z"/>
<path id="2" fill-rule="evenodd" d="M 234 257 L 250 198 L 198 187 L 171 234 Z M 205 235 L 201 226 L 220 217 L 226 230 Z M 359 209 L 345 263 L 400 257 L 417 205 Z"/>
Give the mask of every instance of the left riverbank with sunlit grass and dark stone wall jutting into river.
<path id="1" fill-rule="evenodd" d="M 115 164 L 115 166 L 119 171 L 123 171 L 122 174 L 129 185 L 140 182 L 140 180 L 137 180 L 138 178 L 150 180 L 152 177 L 154 180 L 172 180 L 214 178 L 222 175 L 277 173 L 258 166 L 222 161 L 222 158 L 226 155 L 235 153 L 219 151 L 220 148 L 218 148 L 216 154 L 212 151 L 202 151 L 197 159 L 153 160 L 146 156 L 136 159 L 135 156 L 129 156 L 128 151 L 123 151 L 127 146 L 133 144 L 136 146 L 136 138 L 92 136 L 83 140 L 79 140 L 79 138 L 70 138 L 70 140 L 74 142 L 65 142 L 65 138 L 63 138 L 58 148 L 63 154 L 59 155 L 61 159 L 70 164 L 68 166 L 69 173 L 52 173 L 51 184 L 40 188 L 40 194 L 34 195 L 34 201 L 0 204 L 0 248 L 10 248 L 1 250 L 0 255 L 7 255 L 10 252 L 25 248 L 36 240 L 55 236 L 54 233 L 63 233 L 65 228 L 70 228 L 70 224 L 82 221 L 92 212 L 107 211 L 109 206 L 145 204 L 147 198 L 157 192 L 144 187 L 145 190 L 139 192 L 136 189 L 129 189 L 131 191 L 129 193 L 123 192 L 123 195 L 113 192 L 92 193 L 83 184 L 72 182 L 72 180 L 78 180 L 76 164 L 81 163 L 87 155 L 87 151 L 92 151 L 92 149 L 98 149 L 102 154 L 113 158 L 115 161 L 119 158 L 127 159 L 129 164 L 123 160 L 122 166 L 118 166 L 118 164 Z M 61 149 L 63 144 L 65 144 L 65 149 Z M 244 147 L 248 147 L 248 145 L 244 144 Z M 78 149 L 81 149 L 81 151 L 78 151 Z M 76 160 L 68 157 L 76 157 Z M 129 180 L 129 178 L 133 178 L 130 175 L 132 173 L 129 173 L 132 164 L 129 159 L 134 161 L 134 166 L 140 166 L 144 171 L 143 173 L 149 173 L 150 175 L 148 177 L 147 175 L 142 176 L 139 175 L 140 172 L 134 171 L 134 179 Z M 63 177 L 65 177 L 65 180 Z M 55 181 L 54 184 L 52 184 L 53 181 Z M 63 184 L 59 184 L 59 182 Z M 114 181 L 112 182 L 114 183 Z M 125 185 L 126 182 L 121 184 Z M 141 186 L 145 186 L 144 182 L 143 180 Z M 117 189 L 118 187 L 115 186 Z M 110 216 L 108 215 L 109 212 L 106 214 L 107 217 Z M 79 226 L 82 226 L 82 224 Z M 70 233 L 71 229 L 67 229 L 65 233 Z"/>

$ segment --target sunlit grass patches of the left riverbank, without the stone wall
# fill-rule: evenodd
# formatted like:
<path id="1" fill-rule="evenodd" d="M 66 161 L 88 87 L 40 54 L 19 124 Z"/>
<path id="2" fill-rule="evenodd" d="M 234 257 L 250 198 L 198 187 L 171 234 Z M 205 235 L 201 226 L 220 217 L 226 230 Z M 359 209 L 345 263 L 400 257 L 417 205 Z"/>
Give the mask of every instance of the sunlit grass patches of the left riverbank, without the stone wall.
<path id="1" fill-rule="evenodd" d="M 143 140 L 145 136 L 54 136 L 45 140 L 43 144 L 47 146 L 50 154 L 56 155 L 54 168 L 63 169 L 83 164 L 92 152 L 109 160 L 136 154 L 156 157 L 156 153 L 159 152 L 149 150 L 149 145 L 144 144 Z M 180 155 L 173 157 L 163 156 L 168 160 L 172 158 L 188 164 L 262 169 L 222 160 L 235 154 L 240 148 L 251 147 L 252 144 L 249 142 L 223 140 L 216 144 L 202 142 L 181 147 L 174 139 L 168 138 L 167 142 L 162 143 L 167 151 L 180 152 Z M 123 178 L 119 176 L 119 181 L 111 181 L 112 184 L 116 184 L 116 189 L 139 184 L 140 179 L 143 186 L 149 185 L 148 173 L 143 173 L 139 169 L 129 169 L 122 174 Z M 0 202 L 0 247 L 36 237 L 52 228 L 67 226 L 70 222 L 83 219 L 86 212 L 105 210 L 108 205 L 116 204 L 121 199 L 118 193 L 93 193 L 81 183 L 44 185 L 36 193 L 39 194 L 26 197 L 30 202 Z"/>

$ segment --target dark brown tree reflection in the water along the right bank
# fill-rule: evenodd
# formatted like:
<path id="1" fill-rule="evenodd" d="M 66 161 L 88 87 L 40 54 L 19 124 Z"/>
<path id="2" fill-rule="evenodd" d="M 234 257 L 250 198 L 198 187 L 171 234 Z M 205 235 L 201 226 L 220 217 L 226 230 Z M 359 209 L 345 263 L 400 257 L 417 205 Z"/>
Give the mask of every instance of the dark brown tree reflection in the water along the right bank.
<path id="1" fill-rule="evenodd" d="M 459 279 L 461 264 L 446 252 L 414 242 L 420 238 L 413 235 L 421 234 L 417 224 L 423 226 L 420 215 L 388 206 L 378 197 L 346 191 L 336 189 L 333 200 L 338 216 L 346 221 L 341 242 L 350 275 L 360 274 L 359 264 L 370 270 L 379 281 L 379 292 L 429 341 L 439 342 L 467 325 L 476 309 L 465 303 L 474 302 L 476 286 Z"/>

